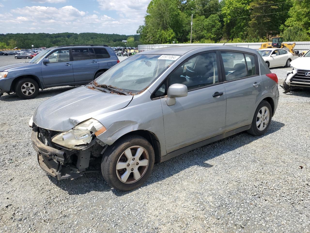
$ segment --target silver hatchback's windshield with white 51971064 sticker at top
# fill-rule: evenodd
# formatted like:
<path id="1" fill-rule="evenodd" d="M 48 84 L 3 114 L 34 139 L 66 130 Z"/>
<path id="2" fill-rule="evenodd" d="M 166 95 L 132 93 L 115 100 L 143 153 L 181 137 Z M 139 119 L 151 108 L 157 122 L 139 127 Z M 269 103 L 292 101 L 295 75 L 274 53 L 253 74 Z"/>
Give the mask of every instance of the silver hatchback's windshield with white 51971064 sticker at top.
<path id="1" fill-rule="evenodd" d="M 117 64 L 95 82 L 95 87 L 122 89 L 138 94 L 148 86 L 176 59 L 175 55 L 134 55 Z"/>

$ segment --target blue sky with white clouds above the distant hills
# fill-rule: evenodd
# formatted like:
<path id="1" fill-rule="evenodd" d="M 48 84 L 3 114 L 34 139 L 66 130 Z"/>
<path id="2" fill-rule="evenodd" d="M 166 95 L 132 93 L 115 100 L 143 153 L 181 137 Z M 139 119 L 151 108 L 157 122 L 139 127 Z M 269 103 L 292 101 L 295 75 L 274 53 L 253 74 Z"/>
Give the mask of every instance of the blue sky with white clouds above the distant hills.
<path id="1" fill-rule="evenodd" d="M 0 34 L 136 34 L 150 0 L 0 0 Z"/>

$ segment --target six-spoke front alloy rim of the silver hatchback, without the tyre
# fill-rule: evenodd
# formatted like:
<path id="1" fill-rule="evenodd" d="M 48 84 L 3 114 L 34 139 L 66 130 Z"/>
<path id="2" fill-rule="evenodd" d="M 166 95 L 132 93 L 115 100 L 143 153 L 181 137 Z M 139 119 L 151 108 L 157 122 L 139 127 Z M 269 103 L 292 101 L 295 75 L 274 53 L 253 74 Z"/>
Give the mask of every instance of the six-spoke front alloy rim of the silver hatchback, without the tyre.
<path id="1" fill-rule="evenodd" d="M 117 178 L 126 184 L 134 183 L 145 174 L 148 163 L 148 152 L 141 146 L 131 146 L 117 160 Z"/>

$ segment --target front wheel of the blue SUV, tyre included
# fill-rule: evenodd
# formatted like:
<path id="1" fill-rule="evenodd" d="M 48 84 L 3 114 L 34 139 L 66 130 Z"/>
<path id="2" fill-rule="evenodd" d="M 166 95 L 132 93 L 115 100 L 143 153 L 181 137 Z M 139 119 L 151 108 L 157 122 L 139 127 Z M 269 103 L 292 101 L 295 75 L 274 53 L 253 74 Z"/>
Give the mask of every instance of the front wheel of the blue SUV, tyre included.
<path id="1" fill-rule="evenodd" d="M 38 83 L 30 78 L 23 78 L 15 85 L 15 93 L 22 99 L 32 99 L 39 93 Z"/>

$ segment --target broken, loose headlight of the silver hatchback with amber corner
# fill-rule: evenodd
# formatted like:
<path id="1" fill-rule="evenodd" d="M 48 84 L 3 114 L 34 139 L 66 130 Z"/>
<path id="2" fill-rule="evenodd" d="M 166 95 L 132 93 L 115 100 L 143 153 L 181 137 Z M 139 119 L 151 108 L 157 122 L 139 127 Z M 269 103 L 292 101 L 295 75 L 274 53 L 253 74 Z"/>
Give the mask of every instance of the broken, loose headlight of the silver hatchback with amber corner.
<path id="1" fill-rule="evenodd" d="M 97 120 L 91 118 L 84 121 L 73 129 L 55 135 L 52 142 L 58 145 L 75 148 L 75 146 L 88 144 L 94 136 L 98 136 L 106 131 L 106 128 Z"/>

